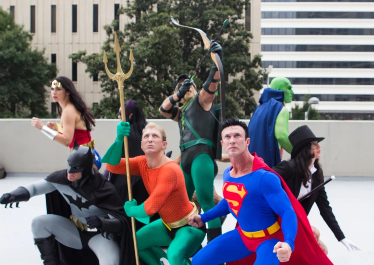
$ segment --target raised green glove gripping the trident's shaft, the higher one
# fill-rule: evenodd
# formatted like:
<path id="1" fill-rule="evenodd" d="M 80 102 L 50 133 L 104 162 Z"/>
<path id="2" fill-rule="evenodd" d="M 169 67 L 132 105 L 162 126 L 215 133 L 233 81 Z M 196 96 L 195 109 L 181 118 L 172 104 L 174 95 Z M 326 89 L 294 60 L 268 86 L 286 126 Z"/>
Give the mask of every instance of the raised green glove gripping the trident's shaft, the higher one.
<path id="1" fill-rule="evenodd" d="M 121 121 L 117 125 L 116 141 L 109 147 L 105 155 L 101 158 L 101 163 L 109 165 L 118 165 L 121 162 L 122 148 L 124 146 L 124 136 L 130 135 L 130 124 Z"/>

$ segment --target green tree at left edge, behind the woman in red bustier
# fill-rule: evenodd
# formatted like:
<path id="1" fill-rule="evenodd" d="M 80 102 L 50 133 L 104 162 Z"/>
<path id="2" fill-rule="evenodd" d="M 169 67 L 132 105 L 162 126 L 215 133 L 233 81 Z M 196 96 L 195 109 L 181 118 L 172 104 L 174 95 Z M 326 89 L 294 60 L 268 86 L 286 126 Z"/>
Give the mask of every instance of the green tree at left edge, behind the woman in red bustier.
<path id="1" fill-rule="evenodd" d="M 43 51 L 31 49 L 32 35 L 0 7 L 0 118 L 46 117 L 46 90 L 57 68 Z"/>

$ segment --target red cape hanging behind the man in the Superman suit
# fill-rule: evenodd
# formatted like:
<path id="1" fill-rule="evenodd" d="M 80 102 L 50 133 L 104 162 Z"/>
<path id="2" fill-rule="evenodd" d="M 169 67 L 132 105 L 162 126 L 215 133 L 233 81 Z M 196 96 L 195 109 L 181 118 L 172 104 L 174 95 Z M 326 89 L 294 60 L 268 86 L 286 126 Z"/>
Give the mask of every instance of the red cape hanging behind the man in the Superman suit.
<path id="1" fill-rule="evenodd" d="M 277 174 L 264 163 L 262 158 L 257 157 L 255 153 L 252 155 L 254 155 L 252 171 L 265 169 Z M 291 201 L 292 207 L 297 216 L 295 249 L 292 251 L 290 260 L 288 262 L 281 263 L 281 265 L 333 265 L 315 240 L 311 225 L 303 206 L 301 206 L 300 202 L 291 193 L 283 178 L 280 177 L 279 174 L 277 175 L 280 178 L 282 188 Z M 236 226 L 238 226 L 238 223 Z M 252 254 L 242 260 L 226 263 L 226 265 L 253 265 L 255 261 L 256 254 Z"/>

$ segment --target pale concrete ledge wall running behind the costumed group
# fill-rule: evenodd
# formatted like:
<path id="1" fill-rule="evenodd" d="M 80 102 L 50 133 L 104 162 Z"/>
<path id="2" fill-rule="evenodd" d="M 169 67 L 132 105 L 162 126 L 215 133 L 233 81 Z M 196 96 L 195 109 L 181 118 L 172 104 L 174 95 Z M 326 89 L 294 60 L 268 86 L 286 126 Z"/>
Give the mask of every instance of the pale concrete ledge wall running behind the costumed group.
<path id="1" fill-rule="evenodd" d="M 45 124 L 47 121 L 42 120 Z M 179 154 L 179 128 L 170 120 L 149 120 L 164 128 L 167 151 Z M 245 120 L 248 124 L 249 120 Z M 101 156 L 116 138 L 118 120 L 96 120 L 92 136 Z M 308 125 L 321 142 L 321 164 L 325 176 L 374 176 L 374 122 L 372 121 L 290 121 L 289 132 Z M 256 139 L 251 139 L 255 141 Z M 8 172 L 49 173 L 66 168 L 69 149 L 49 140 L 31 126 L 30 119 L 0 119 L 0 164 Z M 283 159 L 289 159 L 284 152 Z M 218 174 L 230 166 L 218 162 Z M 100 169 L 103 171 L 105 165 Z"/>

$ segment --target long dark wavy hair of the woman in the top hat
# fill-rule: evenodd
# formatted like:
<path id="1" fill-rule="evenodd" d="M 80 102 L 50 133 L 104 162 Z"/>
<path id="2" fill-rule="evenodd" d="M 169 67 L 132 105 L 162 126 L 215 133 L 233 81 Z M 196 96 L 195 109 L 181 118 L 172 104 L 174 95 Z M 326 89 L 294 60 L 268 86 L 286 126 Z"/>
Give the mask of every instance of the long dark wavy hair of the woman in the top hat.
<path id="1" fill-rule="evenodd" d="M 311 146 L 311 143 L 304 146 L 293 159 L 296 163 L 296 172 L 299 176 L 301 176 L 301 181 L 306 188 L 308 188 L 308 180 L 312 179 L 312 173 L 309 170 L 309 166 L 312 163 L 314 154 L 311 154 Z M 319 181 L 323 181 L 322 166 L 319 164 L 318 159 L 314 161 L 314 167 L 317 169 L 317 179 Z"/>

